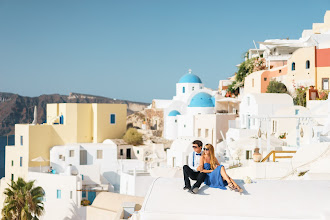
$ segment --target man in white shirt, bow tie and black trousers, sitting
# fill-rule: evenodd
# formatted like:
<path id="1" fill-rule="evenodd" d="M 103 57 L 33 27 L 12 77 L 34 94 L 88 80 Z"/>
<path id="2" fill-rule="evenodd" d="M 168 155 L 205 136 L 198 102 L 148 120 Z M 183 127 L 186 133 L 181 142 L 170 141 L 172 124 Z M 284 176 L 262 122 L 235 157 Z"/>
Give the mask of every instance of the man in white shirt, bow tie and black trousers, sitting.
<path id="1" fill-rule="evenodd" d="M 188 190 L 192 194 L 196 194 L 198 192 L 199 187 L 206 177 L 206 173 L 201 173 L 197 171 L 197 167 L 199 166 L 199 161 L 202 155 L 202 146 L 203 143 L 199 140 L 195 140 L 192 143 L 192 147 L 194 149 L 193 152 L 189 154 L 188 165 L 183 166 L 183 176 L 184 176 L 184 190 Z M 191 187 L 190 179 L 197 180 L 197 182 Z"/>

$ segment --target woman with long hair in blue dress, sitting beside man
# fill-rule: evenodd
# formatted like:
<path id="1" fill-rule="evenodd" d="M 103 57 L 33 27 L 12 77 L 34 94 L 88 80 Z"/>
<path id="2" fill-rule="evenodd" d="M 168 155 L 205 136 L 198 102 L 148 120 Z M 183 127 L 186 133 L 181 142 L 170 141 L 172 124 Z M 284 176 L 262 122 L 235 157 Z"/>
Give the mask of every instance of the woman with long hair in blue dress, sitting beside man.
<path id="1" fill-rule="evenodd" d="M 224 166 L 219 164 L 214 154 L 214 147 L 211 144 L 205 145 L 197 170 L 207 173 L 204 183 L 212 188 L 225 190 L 228 185 L 231 190 L 243 192 L 243 189 L 227 175 Z"/>

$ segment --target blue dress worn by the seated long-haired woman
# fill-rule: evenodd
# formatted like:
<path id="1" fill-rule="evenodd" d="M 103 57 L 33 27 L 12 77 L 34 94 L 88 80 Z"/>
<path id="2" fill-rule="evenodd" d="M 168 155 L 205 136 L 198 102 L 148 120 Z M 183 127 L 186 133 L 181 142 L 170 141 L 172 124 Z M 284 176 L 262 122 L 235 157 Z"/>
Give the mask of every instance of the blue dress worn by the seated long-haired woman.
<path id="1" fill-rule="evenodd" d="M 222 180 L 221 177 L 221 170 L 222 165 L 218 166 L 215 170 L 213 170 L 212 173 L 207 173 L 204 183 L 208 185 L 209 187 L 212 188 L 219 188 L 226 190 L 226 186 L 228 185 L 227 181 Z M 210 170 L 211 169 L 211 164 L 209 163 L 204 163 L 204 169 L 205 170 Z"/>

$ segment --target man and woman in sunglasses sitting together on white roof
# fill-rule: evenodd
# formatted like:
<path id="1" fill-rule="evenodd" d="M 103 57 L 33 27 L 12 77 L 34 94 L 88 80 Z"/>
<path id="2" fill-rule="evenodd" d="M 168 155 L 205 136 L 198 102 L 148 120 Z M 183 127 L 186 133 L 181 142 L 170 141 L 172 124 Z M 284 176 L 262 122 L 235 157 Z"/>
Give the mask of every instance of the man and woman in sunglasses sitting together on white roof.
<path id="1" fill-rule="evenodd" d="M 183 166 L 184 190 L 196 194 L 204 182 L 212 188 L 225 190 L 228 185 L 231 190 L 243 192 L 235 181 L 227 175 L 224 166 L 219 164 L 211 144 L 205 145 L 204 151 L 202 151 L 203 143 L 201 141 L 196 140 L 192 144 L 194 152 L 189 154 L 188 165 Z M 190 185 L 189 178 L 197 180 L 193 187 Z"/>

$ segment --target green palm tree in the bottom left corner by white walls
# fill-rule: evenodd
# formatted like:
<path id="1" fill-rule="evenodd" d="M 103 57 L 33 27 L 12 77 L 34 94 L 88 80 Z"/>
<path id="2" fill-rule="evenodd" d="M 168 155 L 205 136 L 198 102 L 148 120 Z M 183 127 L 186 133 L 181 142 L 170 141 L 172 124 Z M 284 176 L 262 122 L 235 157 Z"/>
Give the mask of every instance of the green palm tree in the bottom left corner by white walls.
<path id="1" fill-rule="evenodd" d="M 20 177 L 16 182 L 12 181 L 4 191 L 6 199 L 2 209 L 2 219 L 35 220 L 43 214 L 44 190 L 40 186 L 33 187 L 33 185 L 34 181 L 25 182 Z"/>

